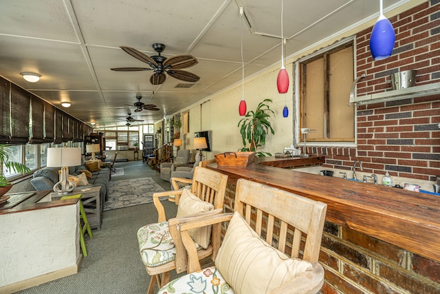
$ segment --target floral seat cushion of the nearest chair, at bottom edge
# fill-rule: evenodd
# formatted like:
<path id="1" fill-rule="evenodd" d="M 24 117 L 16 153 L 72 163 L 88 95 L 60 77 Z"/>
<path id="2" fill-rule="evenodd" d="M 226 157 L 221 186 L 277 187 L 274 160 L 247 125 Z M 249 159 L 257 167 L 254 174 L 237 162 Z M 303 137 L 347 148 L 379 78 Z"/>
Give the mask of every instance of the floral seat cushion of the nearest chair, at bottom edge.
<path id="1" fill-rule="evenodd" d="M 201 271 L 178 277 L 157 292 L 157 294 L 170 293 L 233 294 L 235 292 L 216 267 L 210 266 Z"/>

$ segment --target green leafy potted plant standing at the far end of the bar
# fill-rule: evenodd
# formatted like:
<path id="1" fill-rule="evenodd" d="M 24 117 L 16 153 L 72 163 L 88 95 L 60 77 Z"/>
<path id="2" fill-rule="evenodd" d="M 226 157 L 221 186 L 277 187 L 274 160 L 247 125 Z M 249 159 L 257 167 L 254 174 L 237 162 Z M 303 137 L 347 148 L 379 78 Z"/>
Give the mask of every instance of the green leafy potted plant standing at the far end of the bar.
<path id="1" fill-rule="evenodd" d="M 272 100 L 263 100 L 255 111 L 250 110 L 245 118 L 239 121 L 238 127 L 244 145 L 240 151 L 254 151 L 256 156 L 272 156 L 269 152 L 257 151 L 259 147 L 265 145 L 268 132 L 271 132 L 272 135 L 275 134 L 269 121 L 271 114 L 274 114 L 274 112 L 266 103 L 272 103 Z M 246 147 L 247 143 L 250 143 L 249 147 Z"/>

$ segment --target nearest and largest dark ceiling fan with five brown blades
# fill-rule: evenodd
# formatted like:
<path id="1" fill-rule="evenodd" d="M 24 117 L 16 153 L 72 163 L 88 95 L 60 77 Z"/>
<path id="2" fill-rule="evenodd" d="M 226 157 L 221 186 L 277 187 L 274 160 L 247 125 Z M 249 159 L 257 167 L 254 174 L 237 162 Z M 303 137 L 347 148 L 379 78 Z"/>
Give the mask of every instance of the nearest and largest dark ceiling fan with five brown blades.
<path id="1" fill-rule="evenodd" d="M 144 63 L 150 65 L 149 67 L 116 67 L 111 68 L 118 72 L 136 72 L 144 70 L 153 70 L 153 74 L 150 77 L 150 83 L 152 85 L 160 85 L 165 82 L 166 75 L 173 76 L 181 81 L 186 81 L 190 83 L 195 83 L 199 81 L 200 77 L 197 74 L 192 74 L 192 72 L 187 72 L 186 70 L 180 70 L 181 68 L 191 67 L 199 63 L 197 59 L 189 54 L 176 55 L 171 57 L 161 56 L 160 53 L 165 50 L 165 45 L 161 43 L 154 43 L 153 49 L 158 55 L 147 56 L 146 54 L 135 50 L 135 48 L 120 46 L 122 50 L 133 56 L 135 59 L 139 59 Z"/>

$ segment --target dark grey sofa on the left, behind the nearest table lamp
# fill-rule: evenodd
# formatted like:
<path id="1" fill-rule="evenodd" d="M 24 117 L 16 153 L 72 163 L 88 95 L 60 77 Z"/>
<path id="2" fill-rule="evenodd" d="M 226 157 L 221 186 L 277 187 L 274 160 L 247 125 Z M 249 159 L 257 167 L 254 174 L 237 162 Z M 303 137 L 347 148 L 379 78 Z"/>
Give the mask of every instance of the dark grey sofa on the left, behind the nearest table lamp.
<path id="1" fill-rule="evenodd" d="M 96 165 L 91 162 L 97 162 Z M 82 160 L 82 165 L 76 167 L 69 167 L 69 176 L 79 176 L 80 174 L 87 174 L 87 182 L 89 185 L 78 185 L 81 188 L 87 187 L 101 187 L 100 190 L 100 202 L 101 207 L 104 207 L 104 202 L 109 196 L 109 180 L 110 169 L 104 167 L 99 162 L 100 160 Z M 34 177 L 30 180 L 30 183 L 36 189 L 40 190 L 52 190 L 56 182 L 59 182 L 59 167 L 44 167 L 34 172 Z M 87 172 L 88 171 L 88 172 Z"/>

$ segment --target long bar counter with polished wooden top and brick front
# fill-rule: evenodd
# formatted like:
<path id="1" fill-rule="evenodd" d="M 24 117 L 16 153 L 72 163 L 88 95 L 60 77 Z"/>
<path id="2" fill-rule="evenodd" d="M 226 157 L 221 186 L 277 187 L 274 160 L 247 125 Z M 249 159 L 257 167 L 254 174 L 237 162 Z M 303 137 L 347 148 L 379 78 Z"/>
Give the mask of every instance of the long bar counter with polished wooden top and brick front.
<path id="1" fill-rule="evenodd" d="M 402 289 L 408 291 L 403 293 L 432 293 L 430 289 L 440 293 L 439 196 L 281 169 L 276 167 L 278 160 L 259 160 L 248 167 L 215 163 L 207 167 L 228 175 L 230 193 L 234 193 L 236 180 L 245 178 L 327 203 L 326 225 L 331 229 L 323 237 L 320 260 L 326 269 L 325 286 L 332 290 L 324 288 L 323 293 L 334 293 L 335 288 L 338 293 L 366 293 L 367 289 L 367 293 L 400 293 Z M 317 158 L 310 160 L 314 163 Z M 283 165 L 295 166 L 288 162 Z M 233 197 L 225 200 L 225 207 L 230 204 L 227 209 L 233 209 Z M 396 271 L 388 273 L 393 278 L 384 277 L 388 268 Z M 423 270 L 426 273 L 417 272 Z M 395 277 L 401 278 L 393 280 Z M 401 282 L 403 277 L 406 282 Z M 384 291 L 384 284 L 396 292 Z"/>

